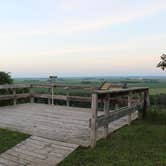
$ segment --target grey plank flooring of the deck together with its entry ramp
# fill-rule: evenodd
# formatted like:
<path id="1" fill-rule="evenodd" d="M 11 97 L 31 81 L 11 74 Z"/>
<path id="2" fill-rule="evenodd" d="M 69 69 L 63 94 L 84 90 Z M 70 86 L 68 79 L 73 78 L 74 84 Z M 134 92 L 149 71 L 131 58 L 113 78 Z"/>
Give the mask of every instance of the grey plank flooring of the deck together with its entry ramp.
<path id="1" fill-rule="evenodd" d="M 137 113 L 137 112 L 136 112 Z M 133 114 L 132 119 L 137 115 Z M 102 114 L 102 113 L 100 113 Z M 0 107 L 0 128 L 31 134 L 32 137 L 0 156 L 0 166 L 52 166 L 78 146 L 90 145 L 90 109 L 46 104 Z M 109 125 L 113 132 L 128 123 L 128 116 Z M 97 139 L 103 137 L 100 128 Z M 1 164 L 2 163 L 2 164 Z"/>

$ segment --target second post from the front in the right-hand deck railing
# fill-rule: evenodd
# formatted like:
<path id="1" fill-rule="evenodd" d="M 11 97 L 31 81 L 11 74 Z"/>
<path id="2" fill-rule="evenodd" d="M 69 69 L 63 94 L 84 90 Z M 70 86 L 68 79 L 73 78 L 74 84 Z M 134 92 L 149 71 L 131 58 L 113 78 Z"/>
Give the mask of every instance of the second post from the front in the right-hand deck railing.
<path id="1" fill-rule="evenodd" d="M 110 108 L 110 95 L 106 94 L 105 98 L 104 98 L 104 116 L 107 119 L 108 115 L 109 115 L 109 108 Z M 109 123 L 107 123 L 104 126 L 104 138 L 107 138 L 108 134 L 109 134 Z"/>

